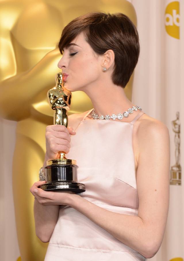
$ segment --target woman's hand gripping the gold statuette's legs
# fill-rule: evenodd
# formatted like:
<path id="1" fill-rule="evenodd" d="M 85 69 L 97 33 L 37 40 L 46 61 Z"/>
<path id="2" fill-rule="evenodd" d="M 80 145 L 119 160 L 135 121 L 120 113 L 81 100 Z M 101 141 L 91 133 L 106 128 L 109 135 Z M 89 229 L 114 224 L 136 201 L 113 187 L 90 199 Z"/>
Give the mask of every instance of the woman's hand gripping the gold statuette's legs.
<path id="1" fill-rule="evenodd" d="M 70 135 L 75 135 L 72 127 L 68 129 L 63 125 L 49 125 L 46 127 L 46 157 L 48 159 L 59 159 L 58 152 L 69 152 Z"/>

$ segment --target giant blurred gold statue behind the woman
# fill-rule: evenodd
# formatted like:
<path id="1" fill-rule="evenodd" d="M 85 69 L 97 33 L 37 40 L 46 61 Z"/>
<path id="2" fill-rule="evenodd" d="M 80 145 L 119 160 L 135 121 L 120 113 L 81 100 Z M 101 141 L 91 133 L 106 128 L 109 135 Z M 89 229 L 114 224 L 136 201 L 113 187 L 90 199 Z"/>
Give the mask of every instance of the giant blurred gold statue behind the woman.
<path id="1" fill-rule="evenodd" d="M 53 124 L 47 91 L 55 86 L 62 29 L 88 12 L 122 12 L 135 25 L 136 14 L 126 0 L 5 0 L 0 2 L 0 9 L 0 112 L 3 118 L 18 121 L 13 194 L 20 254 L 22 261 L 42 261 L 47 244 L 35 235 L 34 199 L 29 189 L 38 180 L 44 161 L 45 127 Z M 125 88 L 130 100 L 132 80 Z M 73 93 L 69 114 L 91 108 L 85 93 Z"/>

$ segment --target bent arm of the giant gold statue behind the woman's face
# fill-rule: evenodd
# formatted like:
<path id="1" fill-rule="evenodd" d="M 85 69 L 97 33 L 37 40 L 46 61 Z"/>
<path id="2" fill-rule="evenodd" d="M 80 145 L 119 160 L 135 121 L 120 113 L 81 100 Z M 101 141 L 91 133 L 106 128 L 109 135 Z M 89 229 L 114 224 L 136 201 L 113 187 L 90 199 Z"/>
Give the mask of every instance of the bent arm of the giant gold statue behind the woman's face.
<path id="1" fill-rule="evenodd" d="M 57 67 L 60 57 L 59 49 L 55 49 L 47 53 L 31 70 L 0 83 L 0 114 L 3 118 L 18 121 L 28 116 L 36 95 L 53 85 L 53 68 Z"/>

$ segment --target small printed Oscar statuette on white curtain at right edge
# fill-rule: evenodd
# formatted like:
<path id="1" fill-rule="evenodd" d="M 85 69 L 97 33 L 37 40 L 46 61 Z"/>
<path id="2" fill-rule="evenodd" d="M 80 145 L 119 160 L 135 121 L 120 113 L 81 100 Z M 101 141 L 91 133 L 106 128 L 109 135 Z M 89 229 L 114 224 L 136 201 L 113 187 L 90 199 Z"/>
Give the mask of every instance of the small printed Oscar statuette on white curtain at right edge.
<path id="1" fill-rule="evenodd" d="M 181 165 L 180 165 L 180 121 L 179 112 L 176 113 L 176 120 L 172 121 L 175 132 L 175 165 L 170 169 L 170 185 L 181 185 Z"/>

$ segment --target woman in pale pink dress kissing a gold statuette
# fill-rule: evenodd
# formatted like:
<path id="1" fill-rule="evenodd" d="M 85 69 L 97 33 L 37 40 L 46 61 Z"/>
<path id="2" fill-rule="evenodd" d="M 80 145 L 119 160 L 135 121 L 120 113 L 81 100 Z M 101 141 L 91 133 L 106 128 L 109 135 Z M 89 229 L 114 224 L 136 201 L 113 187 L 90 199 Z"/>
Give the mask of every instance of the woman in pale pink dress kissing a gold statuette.
<path id="1" fill-rule="evenodd" d="M 36 234 L 49 241 L 45 261 L 151 258 L 168 213 L 169 134 L 124 94 L 139 57 L 137 30 L 124 14 L 89 13 L 64 28 L 59 48 L 66 89 L 87 93 L 94 109 L 69 116 L 68 129 L 46 129 L 43 166 L 65 151 L 86 191 L 31 187 Z"/>

